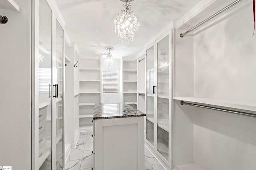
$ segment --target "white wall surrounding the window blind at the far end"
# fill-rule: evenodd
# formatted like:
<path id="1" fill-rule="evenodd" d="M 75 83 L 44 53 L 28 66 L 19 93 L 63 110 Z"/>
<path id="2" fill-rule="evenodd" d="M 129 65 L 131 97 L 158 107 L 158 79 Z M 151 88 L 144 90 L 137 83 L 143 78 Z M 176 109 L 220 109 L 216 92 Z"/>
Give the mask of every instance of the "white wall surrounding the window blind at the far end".
<path id="1" fill-rule="evenodd" d="M 120 103 L 122 102 L 122 59 L 114 59 L 115 64 L 110 70 L 119 71 L 119 93 L 102 93 L 101 103 Z M 104 63 L 104 58 L 100 62 L 101 70 L 108 70 Z"/>

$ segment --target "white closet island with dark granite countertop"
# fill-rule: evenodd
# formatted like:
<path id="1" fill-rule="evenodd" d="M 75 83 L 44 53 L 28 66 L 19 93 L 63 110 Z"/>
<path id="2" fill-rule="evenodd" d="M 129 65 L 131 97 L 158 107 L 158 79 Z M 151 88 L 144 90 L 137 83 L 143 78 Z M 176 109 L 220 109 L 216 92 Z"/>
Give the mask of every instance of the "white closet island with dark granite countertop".
<path id="1" fill-rule="evenodd" d="M 144 170 L 144 116 L 125 103 L 95 104 L 96 170 Z"/>

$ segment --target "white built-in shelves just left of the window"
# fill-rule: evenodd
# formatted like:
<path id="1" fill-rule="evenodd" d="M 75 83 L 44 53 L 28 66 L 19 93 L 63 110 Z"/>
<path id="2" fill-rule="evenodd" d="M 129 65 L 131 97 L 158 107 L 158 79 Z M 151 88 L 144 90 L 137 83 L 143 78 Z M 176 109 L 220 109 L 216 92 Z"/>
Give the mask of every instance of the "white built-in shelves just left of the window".
<path id="1" fill-rule="evenodd" d="M 100 59 L 80 59 L 79 68 L 79 127 L 92 130 L 94 105 L 101 100 Z"/>

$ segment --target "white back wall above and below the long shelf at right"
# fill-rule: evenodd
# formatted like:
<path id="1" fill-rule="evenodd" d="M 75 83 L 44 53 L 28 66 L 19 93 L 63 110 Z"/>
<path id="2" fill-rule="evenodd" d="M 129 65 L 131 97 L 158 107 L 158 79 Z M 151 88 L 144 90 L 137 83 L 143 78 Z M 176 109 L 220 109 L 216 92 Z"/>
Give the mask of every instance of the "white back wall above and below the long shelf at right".
<path id="1" fill-rule="evenodd" d="M 194 36 L 194 96 L 256 103 L 252 6 Z M 204 170 L 256 167 L 256 118 L 194 109 L 194 162 Z"/>

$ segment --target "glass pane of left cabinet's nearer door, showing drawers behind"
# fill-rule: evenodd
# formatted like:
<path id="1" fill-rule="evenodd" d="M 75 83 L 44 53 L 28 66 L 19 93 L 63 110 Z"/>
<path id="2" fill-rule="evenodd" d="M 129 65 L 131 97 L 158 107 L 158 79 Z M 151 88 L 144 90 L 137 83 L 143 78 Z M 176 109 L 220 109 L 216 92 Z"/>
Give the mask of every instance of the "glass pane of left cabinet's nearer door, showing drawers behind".
<path id="1" fill-rule="evenodd" d="M 52 169 L 52 10 L 39 0 L 38 42 L 39 152 L 38 169 Z"/>

